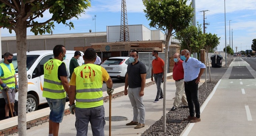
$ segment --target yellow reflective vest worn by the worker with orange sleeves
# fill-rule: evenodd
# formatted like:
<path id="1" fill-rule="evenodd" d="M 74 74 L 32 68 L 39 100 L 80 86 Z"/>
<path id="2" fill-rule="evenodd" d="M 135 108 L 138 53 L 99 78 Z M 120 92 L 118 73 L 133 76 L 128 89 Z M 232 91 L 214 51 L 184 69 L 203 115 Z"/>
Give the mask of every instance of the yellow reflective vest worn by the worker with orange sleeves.
<path id="1" fill-rule="evenodd" d="M 103 105 L 101 66 L 84 64 L 74 69 L 76 74 L 76 107 Z"/>

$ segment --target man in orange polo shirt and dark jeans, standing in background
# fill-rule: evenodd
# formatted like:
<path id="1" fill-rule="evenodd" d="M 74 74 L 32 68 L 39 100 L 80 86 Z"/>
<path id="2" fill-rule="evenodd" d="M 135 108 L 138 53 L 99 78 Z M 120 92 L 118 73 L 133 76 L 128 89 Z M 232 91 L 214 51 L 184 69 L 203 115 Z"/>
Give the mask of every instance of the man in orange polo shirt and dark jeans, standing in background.
<path id="1" fill-rule="evenodd" d="M 157 88 L 156 99 L 154 100 L 156 103 L 159 100 L 162 100 L 164 96 L 161 88 L 161 82 L 164 81 L 164 60 L 158 56 L 158 51 L 156 50 L 152 52 L 152 57 L 151 81 L 153 81 L 154 76 Z"/>

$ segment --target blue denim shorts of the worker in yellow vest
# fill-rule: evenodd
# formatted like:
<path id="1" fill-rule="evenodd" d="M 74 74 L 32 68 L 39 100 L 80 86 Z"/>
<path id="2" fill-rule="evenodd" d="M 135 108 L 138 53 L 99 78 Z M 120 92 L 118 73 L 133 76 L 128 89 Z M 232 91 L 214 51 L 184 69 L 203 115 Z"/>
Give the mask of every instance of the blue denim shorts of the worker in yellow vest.
<path id="1" fill-rule="evenodd" d="M 56 123 L 62 122 L 65 104 L 66 104 L 66 98 L 63 98 L 63 99 L 46 98 L 46 100 L 51 110 L 49 119 L 52 120 L 52 122 L 56 122 Z"/>

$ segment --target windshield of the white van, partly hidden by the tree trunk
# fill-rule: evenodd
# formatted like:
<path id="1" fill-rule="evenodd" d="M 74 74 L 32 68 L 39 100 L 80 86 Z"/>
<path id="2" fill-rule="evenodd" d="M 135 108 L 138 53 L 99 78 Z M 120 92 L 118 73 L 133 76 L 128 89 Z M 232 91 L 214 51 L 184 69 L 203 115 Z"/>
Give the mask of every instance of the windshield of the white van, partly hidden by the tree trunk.
<path id="1" fill-rule="evenodd" d="M 39 55 L 28 55 L 27 56 L 27 68 L 26 70 L 28 71 L 32 64 L 36 61 L 36 59 L 39 57 Z M 0 63 L 4 62 L 4 59 L 0 61 Z M 12 64 L 14 66 L 15 72 L 18 73 L 18 62 L 17 62 L 17 56 L 12 57 Z"/>

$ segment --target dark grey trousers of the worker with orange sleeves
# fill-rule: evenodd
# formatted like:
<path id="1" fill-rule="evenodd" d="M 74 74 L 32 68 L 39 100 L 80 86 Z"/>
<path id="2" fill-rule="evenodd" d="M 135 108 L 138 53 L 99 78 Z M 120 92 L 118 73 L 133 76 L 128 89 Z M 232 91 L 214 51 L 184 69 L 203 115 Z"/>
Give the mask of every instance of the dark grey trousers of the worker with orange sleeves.
<path id="1" fill-rule="evenodd" d="M 104 136 L 104 126 L 106 124 L 104 110 L 103 105 L 94 108 L 75 108 L 76 136 L 87 136 L 89 122 L 93 136 Z"/>

